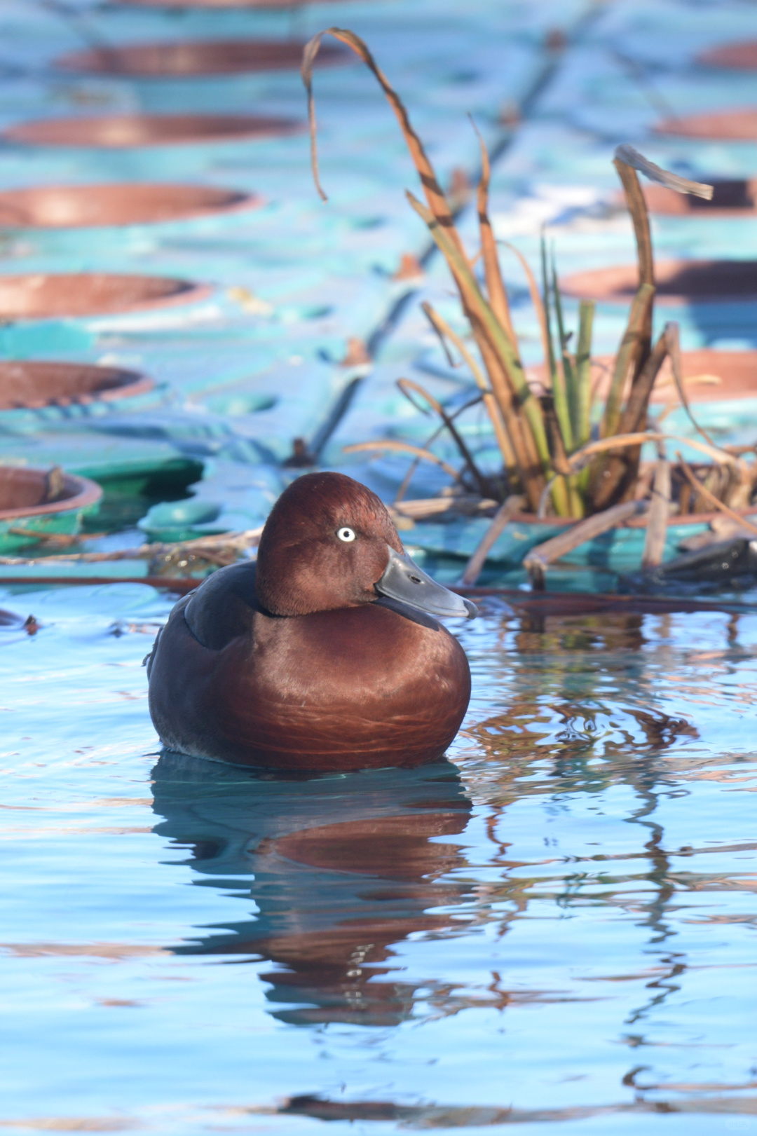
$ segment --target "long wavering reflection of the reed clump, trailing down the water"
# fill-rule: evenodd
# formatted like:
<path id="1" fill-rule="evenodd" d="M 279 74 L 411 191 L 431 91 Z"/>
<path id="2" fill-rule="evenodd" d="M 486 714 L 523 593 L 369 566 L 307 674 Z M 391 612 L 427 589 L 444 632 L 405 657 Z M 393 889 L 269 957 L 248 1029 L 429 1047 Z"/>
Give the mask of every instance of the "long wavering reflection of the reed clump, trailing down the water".
<path id="1" fill-rule="evenodd" d="M 618 1022 L 618 1039 L 637 1049 L 649 1044 L 644 1030 L 650 1019 L 681 989 L 687 971 L 685 954 L 674 946 L 677 930 L 672 912 L 680 902 L 679 891 L 690 886 L 675 862 L 693 849 L 667 849 L 655 813 L 660 799 L 687 793 L 687 782 L 700 775 L 701 765 L 707 765 L 710 778 L 726 779 L 732 760 L 726 753 L 685 744 L 698 740 L 699 733 L 688 717 L 666 712 L 665 687 L 684 683 L 698 693 L 699 682 L 709 679 L 712 668 L 732 669 L 743 652 L 737 617 L 724 628 L 723 648 L 705 652 L 696 636 L 690 645 L 673 645 L 669 615 L 650 620 L 626 612 L 526 612 L 508 632 L 509 643 L 502 641 L 504 649 L 510 648 L 502 661 L 511 661 L 509 673 L 502 671 L 506 709 L 469 730 L 496 760 L 497 772 L 491 770 L 488 780 L 500 815 L 489 835 L 498 843 L 499 833 L 507 830 L 502 813 L 525 795 L 566 800 L 617 785 L 633 791 L 635 803 L 625 820 L 639 826 L 637 847 L 571 855 L 572 869 L 554 858 L 551 896 L 557 907 L 569 908 L 583 902 L 583 889 L 591 887 L 596 901 L 601 876 L 601 901 L 627 911 L 647 929 L 650 980 L 641 1004 Z M 500 847 L 497 862 L 514 866 L 507 846 Z M 521 911 L 525 911 L 532 882 L 523 871 L 519 875 Z M 542 896 L 544 882 L 543 871 L 533 880 Z M 513 899 L 511 886 L 499 892 L 500 899 Z M 637 1072 L 637 1067 L 631 1069 L 623 1083 L 638 1087 Z"/>

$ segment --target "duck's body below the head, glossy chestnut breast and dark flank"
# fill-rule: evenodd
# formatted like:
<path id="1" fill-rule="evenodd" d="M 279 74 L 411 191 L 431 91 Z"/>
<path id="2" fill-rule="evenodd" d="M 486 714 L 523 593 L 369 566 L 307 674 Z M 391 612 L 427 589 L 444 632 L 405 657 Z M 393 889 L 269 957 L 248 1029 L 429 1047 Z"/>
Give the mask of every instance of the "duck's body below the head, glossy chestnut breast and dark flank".
<path id="1" fill-rule="evenodd" d="M 380 604 L 276 618 L 211 650 L 177 604 L 157 644 L 150 710 L 170 749 L 278 769 L 419 765 L 455 737 L 465 652 L 433 620 Z"/>

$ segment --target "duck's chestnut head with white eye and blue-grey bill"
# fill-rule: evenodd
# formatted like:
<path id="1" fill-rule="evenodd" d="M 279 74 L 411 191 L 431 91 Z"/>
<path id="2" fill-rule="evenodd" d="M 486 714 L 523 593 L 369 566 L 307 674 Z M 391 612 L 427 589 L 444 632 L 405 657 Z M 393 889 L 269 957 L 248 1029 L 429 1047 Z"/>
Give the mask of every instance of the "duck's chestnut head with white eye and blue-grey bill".
<path id="1" fill-rule="evenodd" d="M 383 503 L 344 474 L 306 474 L 284 490 L 260 537 L 256 591 L 276 616 L 388 596 L 433 616 L 477 615 L 407 556 Z"/>

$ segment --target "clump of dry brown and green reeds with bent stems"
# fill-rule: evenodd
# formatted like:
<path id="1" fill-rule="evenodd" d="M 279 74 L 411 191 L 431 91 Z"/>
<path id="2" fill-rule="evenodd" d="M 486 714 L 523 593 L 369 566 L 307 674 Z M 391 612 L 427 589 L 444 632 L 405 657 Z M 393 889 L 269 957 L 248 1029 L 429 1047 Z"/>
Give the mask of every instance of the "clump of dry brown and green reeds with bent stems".
<path id="1" fill-rule="evenodd" d="M 623 183 L 637 240 L 639 289 L 631 304 L 597 427 L 592 425 L 590 373 L 593 302 L 581 302 L 576 346 L 572 351 L 571 336 L 565 329 L 554 257 L 547 254 L 542 243 L 540 294 L 529 265 L 513 250 L 526 273 L 541 328 L 547 381 L 541 385 L 531 383 L 523 366 L 497 241 L 489 219 L 490 162 L 483 140 L 480 139 L 482 176 L 477 189 L 480 249 L 472 257 L 464 248 L 455 225 L 454 209 L 410 124 L 402 101 L 363 40 L 352 32 L 336 27 L 314 36 L 305 49 L 302 60 L 310 115 L 313 170 L 321 195 L 325 200 L 318 177 L 311 78 L 313 62 L 325 34 L 348 44 L 367 64 L 381 84 L 405 135 L 426 203 L 410 192 L 407 198 L 429 226 L 457 285 L 475 349 L 468 345 L 466 337 L 457 335 L 430 304 L 424 304 L 424 310 L 444 349 L 448 352 L 451 349 L 459 352 L 480 389 L 480 398 L 491 419 L 502 456 L 505 476 L 499 486 L 496 479 L 485 478 L 477 470 L 455 429 L 454 416 L 443 412 L 417 384 L 415 389 L 439 412 L 440 429 L 447 428 L 458 444 L 464 461 L 461 477 L 468 487 L 482 496 L 493 495 L 498 500 L 508 499 L 513 502 L 519 499 L 523 508 L 541 516 L 551 512 L 575 520 L 614 509 L 639 496 L 651 496 L 657 502 L 655 508 L 659 515 L 656 520 L 658 545 L 659 529 L 662 527 L 664 537 L 671 511 L 682 513 L 707 507 L 721 508 L 727 512 L 733 508 L 747 507 L 755 487 L 756 465 L 747 463 L 740 453 L 717 446 L 696 423 L 701 440 L 676 438 L 675 435 L 663 433 L 648 419 L 655 382 L 668 357 L 679 396 L 690 417 L 691 412 L 681 374 L 677 326 L 667 324 L 659 339 L 652 343 L 652 247 L 647 207 L 637 170 L 642 170 L 647 176 L 680 192 L 705 198 L 712 197 L 712 186 L 689 182 L 662 170 L 632 147 L 618 147 L 616 151 L 615 167 Z M 483 266 L 480 274 L 474 267 L 479 258 Z M 704 470 L 700 467 L 694 471 L 680 454 L 675 463 L 671 462 L 666 453 L 666 442 L 669 441 L 680 441 L 699 450 L 708 459 Z M 641 446 L 644 442 L 657 444 L 658 461 L 651 475 L 649 469 L 640 470 Z M 416 460 L 431 458 L 444 468 L 450 468 L 431 454 L 427 446 L 415 448 L 393 441 L 364 443 L 350 449 L 380 448 L 405 450 L 411 452 Z M 456 471 L 451 469 L 451 474 L 456 475 Z M 457 476 L 459 479 L 460 475 Z M 647 559 L 651 563 L 657 554 L 652 548 L 655 540 L 648 543 L 650 550 Z"/>

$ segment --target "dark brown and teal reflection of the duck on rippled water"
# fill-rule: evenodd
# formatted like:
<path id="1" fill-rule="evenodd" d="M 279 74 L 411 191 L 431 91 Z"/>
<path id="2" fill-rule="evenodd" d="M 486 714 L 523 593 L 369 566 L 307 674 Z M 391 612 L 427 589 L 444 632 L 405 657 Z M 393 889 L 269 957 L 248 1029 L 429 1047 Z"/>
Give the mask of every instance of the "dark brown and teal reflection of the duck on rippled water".
<path id="1" fill-rule="evenodd" d="M 294 1025 L 411 1016 L 416 986 L 386 977 L 392 944 L 459 927 L 438 909 L 468 891 L 441 879 L 465 864 L 460 846 L 435 840 L 460 835 L 471 813 L 451 762 L 306 778 L 164 752 L 153 795 L 165 818 L 155 832 L 190 851 L 181 862 L 206 877 L 197 883 L 257 907 L 176 954 L 276 963 L 260 977 L 268 1000 L 290 1006 L 274 1017 Z"/>

